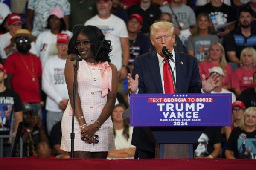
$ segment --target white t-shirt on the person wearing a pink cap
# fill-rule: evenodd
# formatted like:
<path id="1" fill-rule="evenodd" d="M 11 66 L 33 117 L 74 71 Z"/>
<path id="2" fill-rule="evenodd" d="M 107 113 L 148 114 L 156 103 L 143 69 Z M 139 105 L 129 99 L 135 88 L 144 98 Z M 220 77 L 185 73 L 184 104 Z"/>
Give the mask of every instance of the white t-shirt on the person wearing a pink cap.
<path id="1" fill-rule="evenodd" d="M 61 33 L 66 33 L 69 35 L 69 37 L 72 37 L 72 32 L 65 30 Z M 57 55 L 58 50 L 56 47 L 57 42 L 57 35 L 52 34 L 50 30 L 42 32 L 40 35 L 38 35 L 36 42 L 35 42 L 35 48 L 36 48 L 36 55 L 40 57 L 40 60 L 42 62 L 42 68 L 44 68 L 44 64 L 49 58 L 49 56 Z"/>

